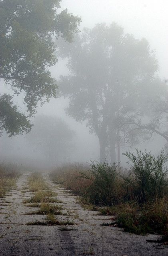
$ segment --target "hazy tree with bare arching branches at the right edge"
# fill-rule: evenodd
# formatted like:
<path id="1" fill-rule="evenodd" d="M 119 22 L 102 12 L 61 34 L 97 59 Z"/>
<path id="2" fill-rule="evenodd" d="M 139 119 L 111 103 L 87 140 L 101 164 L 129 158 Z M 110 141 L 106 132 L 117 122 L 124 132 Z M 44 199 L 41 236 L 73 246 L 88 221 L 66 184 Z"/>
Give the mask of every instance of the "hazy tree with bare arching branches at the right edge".
<path id="1" fill-rule="evenodd" d="M 158 81 L 159 82 L 159 81 Z M 166 140 L 168 150 L 168 86 L 160 84 L 156 95 L 138 112 L 127 112 L 120 120 L 118 127 L 125 142 L 149 140 L 155 134 Z"/>

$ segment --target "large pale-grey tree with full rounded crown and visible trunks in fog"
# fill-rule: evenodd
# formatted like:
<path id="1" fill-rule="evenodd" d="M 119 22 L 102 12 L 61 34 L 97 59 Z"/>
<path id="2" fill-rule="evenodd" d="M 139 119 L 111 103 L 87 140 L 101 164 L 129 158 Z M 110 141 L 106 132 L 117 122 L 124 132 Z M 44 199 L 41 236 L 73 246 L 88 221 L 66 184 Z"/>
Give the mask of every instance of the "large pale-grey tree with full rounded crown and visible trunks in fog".
<path id="1" fill-rule="evenodd" d="M 98 136 L 101 161 L 109 152 L 115 162 L 116 146 L 120 161 L 119 121 L 128 112 L 147 111 L 162 84 L 154 76 L 158 70 L 154 52 L 146 39 L 125 35 L 116 23 L 85 28 L 76 34 L 73 45 L 62 40 L 56 44 L 60 56 L 69 58 L 71 75 L 60 80 L 62 94 L 70 100 L 67 114 L 80 122 L 87 120 L 90 132 Z"/>

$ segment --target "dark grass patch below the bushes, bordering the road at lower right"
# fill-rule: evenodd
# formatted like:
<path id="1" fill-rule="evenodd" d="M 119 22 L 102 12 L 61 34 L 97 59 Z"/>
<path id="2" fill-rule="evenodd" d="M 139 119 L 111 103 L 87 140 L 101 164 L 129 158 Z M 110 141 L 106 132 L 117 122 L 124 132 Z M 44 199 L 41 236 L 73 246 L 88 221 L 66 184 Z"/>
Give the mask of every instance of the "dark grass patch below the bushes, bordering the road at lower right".
<path id="1" fill-rule="evenodd" d="M 114 220 L 126 232 L 142 235 L 146 233 L 166 235 L 168 232 L 168 203 L 166 198 L 141 205 L 137 202 L 124 203 L 108 208 L 108 212 L 116 216 L 116 220 Z"/>

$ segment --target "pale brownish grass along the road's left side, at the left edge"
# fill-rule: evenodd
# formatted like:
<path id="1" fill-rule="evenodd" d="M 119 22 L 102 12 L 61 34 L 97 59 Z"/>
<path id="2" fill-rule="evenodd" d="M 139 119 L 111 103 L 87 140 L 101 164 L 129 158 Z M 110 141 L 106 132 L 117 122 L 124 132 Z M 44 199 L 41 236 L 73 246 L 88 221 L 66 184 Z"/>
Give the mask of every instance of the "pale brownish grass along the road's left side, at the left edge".
<path id="1" fill-rule="evenodd" d="M 0 198 L 4 197 L 6 191 L 16 185 L 18 177 L 18 166 L 16 164 L 0 163 Z"/>

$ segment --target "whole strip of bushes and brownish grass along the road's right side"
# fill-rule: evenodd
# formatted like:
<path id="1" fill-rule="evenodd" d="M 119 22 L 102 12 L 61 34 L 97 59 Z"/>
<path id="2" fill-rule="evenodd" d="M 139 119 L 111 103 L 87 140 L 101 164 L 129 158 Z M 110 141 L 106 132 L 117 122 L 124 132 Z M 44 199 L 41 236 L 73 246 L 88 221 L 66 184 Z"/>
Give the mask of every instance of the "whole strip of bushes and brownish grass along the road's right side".
<path id="1" fill-rule="evenodd" d="M 91 162 L 60 167 L 52 172 L 60 182 L 82 198 L 90 209 L 114 215 L 115 224 L 135 234 L 166 235 L 168 226 L 168 155 L 126 152 L 131 165 L 123 171 L 116 164 Z M 82 168 L 81 168 L 82 167 Z M 61 173 L 61 174 L 60 174 Z M 86 208 L 88 208 L 86 206 Z"/>

